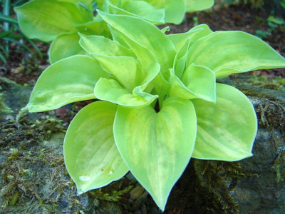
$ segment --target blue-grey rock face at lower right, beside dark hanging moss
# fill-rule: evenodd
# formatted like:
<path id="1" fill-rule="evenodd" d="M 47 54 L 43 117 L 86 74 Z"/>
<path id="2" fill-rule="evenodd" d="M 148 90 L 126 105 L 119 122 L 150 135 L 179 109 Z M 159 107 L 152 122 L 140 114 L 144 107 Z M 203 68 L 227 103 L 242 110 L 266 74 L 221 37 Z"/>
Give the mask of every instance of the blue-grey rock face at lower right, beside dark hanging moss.
<path id="1" fill-rule="evenodd" d="M 285 98 L 285 93 L 281 97 Z M 278 98 L 254 98 L 259 118 L 254 156 L 240 161 L 251 176 L 239 180 L 232 193 L 240 213 L 285 213 L 284 104 Z"/>

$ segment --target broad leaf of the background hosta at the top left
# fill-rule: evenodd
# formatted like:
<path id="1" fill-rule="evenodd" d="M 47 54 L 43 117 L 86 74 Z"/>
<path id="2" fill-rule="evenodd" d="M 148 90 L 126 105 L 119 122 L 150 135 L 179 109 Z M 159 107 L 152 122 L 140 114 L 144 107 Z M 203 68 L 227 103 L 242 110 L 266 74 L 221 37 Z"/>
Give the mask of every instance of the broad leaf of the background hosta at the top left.
<path id="1" fill-rule="evenodd" d="M 93 20 L 92 12 L 71 2 L 35 0 L 15 8 L 21 30 L 30 39 L 51 41 L 76 32 L 76 24 Z"/>

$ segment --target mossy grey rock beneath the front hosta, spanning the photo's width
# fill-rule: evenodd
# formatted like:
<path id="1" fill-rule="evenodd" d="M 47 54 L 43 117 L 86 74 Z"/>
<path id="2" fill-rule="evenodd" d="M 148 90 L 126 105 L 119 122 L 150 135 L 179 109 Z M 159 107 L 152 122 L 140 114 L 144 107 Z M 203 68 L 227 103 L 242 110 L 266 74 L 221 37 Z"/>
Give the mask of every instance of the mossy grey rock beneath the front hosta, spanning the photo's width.
<path id="1" fill-rule="evenodd" d="M 165 213 L 285 213 L 285 93 L 223 81 L 254 103 L 259 118 L 254 156 L 238 162 L 192 158 Z M 76 195 L 62 154 L 67 127 L 52 112 L 28 114 L 16 123 L 31 87 L 3 79 L 1 87 L 13 113 L 1 115 L 0 213 L 160 213 L 145 191 L 131 199 L 139 184 L 130 175 Z"/>

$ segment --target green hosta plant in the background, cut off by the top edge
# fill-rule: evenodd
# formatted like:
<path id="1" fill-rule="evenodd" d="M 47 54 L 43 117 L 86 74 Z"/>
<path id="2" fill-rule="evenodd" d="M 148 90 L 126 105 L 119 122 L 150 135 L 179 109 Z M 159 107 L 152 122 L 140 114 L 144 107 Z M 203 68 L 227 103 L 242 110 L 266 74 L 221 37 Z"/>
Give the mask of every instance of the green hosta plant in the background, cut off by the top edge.
<path id="1" fill-rule="evenodd" d="M 214 0 L 98 0 L 99 9 L 110 14 L 138 16 L 153 24 L 180 24 L 185 12 L 210 8 Z M 93 16 L 93 0 L 33 0 L 15 11 L 21 30 L 30 39 L 52 41 L 49 61 L 87 54 L 78 44 L 78 32 L 110 37 L 105 21 Z"/>

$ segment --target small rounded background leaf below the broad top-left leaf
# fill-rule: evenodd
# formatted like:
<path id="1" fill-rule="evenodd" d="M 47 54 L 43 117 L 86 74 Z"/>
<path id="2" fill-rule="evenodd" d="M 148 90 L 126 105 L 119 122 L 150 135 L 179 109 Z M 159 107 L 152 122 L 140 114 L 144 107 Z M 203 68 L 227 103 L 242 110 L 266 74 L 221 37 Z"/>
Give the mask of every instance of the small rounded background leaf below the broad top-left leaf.
<path id="1" fill-rule="evenodd" d="M 76 34 L 63 34 L 57 36 L 51 43 L 48 51 L 48 58 L 50 63 L 55 63 L 58 60 L 73 56 L 76 54 L 86 54 L 79 45 L 80 36 Z"/>

